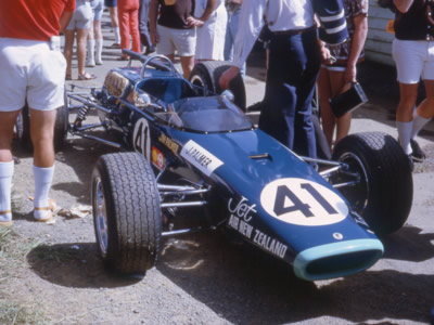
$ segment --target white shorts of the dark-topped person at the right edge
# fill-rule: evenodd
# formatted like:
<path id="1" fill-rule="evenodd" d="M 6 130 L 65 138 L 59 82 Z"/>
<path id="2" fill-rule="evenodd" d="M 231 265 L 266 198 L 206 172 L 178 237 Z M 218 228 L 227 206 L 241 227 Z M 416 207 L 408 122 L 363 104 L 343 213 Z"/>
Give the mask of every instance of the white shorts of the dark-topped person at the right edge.
<path id="1" fill-rule="evenodd" d="M 433 41 L 394 39 L 392 55 L 400 83 L 418 83 L 421 77 L 423 80 L 434 80 Z"/>

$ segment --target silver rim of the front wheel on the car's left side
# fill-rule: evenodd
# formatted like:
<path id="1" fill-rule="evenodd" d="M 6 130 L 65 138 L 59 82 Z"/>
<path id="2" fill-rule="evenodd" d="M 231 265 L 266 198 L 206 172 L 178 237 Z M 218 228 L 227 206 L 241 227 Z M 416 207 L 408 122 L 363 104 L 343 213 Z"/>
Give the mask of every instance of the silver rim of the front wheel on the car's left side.
<path id="1" fill-rule="evenodd" d="M 100 251 L 103 257 L 107 255 L 108 246 L 108 226 L 107 216 L 105 209 L 105 197 L 102 188 L 101 179 L 95 179 L 94 182 L 94 195 L 93 195 L 93 207 L 94 207 L 94 222 L 97 232 L 97 242 L 100 245 Z"/>

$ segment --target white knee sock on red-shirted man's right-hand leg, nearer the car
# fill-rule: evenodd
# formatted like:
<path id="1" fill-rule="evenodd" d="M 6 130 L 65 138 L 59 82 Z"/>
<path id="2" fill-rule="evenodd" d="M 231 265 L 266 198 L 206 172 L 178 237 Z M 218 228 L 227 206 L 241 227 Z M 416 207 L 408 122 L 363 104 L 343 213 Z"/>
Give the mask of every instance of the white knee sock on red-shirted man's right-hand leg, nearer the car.
<path id="1" fill-rule="evenodd" d="M 40 168 L 34 165 L 34 176 L 35 176 L 35 208 L 44 208 L 49 206 L 48 194 L 51 188 L 51 183 L 53 181 L 54 166 L 49 168 Z M 50 213 L 47 210 L 35 210 L 35 219 L 46 219 Z"/>

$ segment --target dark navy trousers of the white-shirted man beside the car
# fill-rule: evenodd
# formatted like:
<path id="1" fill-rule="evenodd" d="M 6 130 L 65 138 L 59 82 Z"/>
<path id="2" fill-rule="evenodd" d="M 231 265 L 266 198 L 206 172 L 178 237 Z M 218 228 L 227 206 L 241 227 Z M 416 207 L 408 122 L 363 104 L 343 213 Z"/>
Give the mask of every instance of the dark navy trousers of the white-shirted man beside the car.
<path id="1" fill-rule="evenodd" d="M 321 64 L 316 31 L 273 35 L 259 129 L 296 154 L 317 156 L 310 120 L 311 100 Z"/>

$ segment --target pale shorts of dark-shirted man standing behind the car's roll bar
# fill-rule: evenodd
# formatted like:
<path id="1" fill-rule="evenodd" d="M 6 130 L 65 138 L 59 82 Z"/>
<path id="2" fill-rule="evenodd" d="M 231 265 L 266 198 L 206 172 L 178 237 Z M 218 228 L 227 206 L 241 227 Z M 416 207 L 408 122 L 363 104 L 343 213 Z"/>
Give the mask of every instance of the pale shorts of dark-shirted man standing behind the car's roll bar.
<path id="1" fill-rule="evenodd" d="M 177 29 L 156 25 L 159 42 L 156 52 L 163 55 L 175 54 L 179 56 L 193 56 L 196 49 L 196 29 Z"/>

